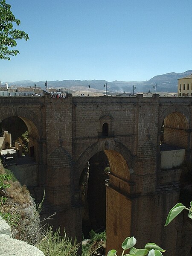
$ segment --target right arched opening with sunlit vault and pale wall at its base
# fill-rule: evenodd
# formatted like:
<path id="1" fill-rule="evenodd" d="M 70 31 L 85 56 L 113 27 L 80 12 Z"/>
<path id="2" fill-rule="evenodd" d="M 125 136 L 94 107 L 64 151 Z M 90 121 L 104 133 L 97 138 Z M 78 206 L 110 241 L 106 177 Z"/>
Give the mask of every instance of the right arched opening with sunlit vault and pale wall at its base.
<path id="1" fill-rule="evenodd" d="M 165 117 L 160 131 L 161 168 L 171 169 L 180 166 L 188 148 L 189 125 L 186 117 L 179 112 Z"/>

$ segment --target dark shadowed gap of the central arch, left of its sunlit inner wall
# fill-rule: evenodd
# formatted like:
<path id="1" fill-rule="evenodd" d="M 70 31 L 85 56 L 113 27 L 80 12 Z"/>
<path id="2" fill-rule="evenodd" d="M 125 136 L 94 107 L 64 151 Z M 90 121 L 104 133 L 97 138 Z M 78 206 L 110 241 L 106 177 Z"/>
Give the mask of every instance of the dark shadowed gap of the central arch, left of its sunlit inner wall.
<path id="1" fill-rule="evenodd" d="M 91 157 L 80 178 L 82 212 L 82 233 L 88 238 L 90 230 L 105 230 L 106 186 L 109 178 L 109 161 L 104 151 Z"/>

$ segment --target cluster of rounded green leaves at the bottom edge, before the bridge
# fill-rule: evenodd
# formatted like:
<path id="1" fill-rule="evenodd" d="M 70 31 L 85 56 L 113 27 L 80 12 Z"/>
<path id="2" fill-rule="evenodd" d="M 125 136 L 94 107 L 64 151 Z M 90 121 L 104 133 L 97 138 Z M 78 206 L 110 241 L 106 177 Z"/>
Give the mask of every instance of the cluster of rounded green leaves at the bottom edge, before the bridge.
<path id="1" fill-rule="evenodd" d="M 161 252 L 165 252 L 165 250 L 154 243 L 145 244 L 145 249 L 137 249 L 134 247 L 136 243 L 137 240 L 134 236 L 127 237 L 121 245 L 123 248 L 122 256 L 163 256 Z M 129 250 L 129 254 L 124 254 L 125 250 Z M 110 250 L 107 256 L 117 256 L 116 250 Z"/>

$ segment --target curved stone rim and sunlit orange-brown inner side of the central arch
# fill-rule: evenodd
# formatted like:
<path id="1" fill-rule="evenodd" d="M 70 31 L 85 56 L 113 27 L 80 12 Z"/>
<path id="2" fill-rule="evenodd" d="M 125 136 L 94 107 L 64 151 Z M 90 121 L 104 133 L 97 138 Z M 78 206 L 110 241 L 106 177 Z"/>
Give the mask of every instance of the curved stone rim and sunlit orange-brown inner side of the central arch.
<path id="1" fill-rule="evenodd" d="M 131 236 L 130 167 L 133 156 L 130 151 L 114 140 L 102 140 L 87 148 L 76 162 L 78 180 L 87 161 L 99 151 L 104 151 L 110 166 L 109 182 L 106 184 L 106 251 L 115 247 L 122 253 L 122 241 Z"/>

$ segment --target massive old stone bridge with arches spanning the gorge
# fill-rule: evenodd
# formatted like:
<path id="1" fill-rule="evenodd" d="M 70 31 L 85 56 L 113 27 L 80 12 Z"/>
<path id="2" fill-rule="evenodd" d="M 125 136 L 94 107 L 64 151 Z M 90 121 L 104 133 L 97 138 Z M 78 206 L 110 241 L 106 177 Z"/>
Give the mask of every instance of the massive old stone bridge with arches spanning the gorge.
<path id="1" fill-rule="evenodd" d="M 91 172 L 91 164 L 86 166 L 94 156 L 95 166 L 105 158 L 104 167 L 110 167 L 106 206 L 97 202 L 102 201 L 97 173 L 92 199 L 94 211 L 104 212 L 101 218 L 106 212 L 107 250 L 116 248 L 120 254 L 122 241 L 133 235 L 137 247 L 151 241 L 170 256 L 189 255 L 192 228 L 186 216 L 163 226 L 180 200 L 181 163 L 192 162 L 192 97 L 0 97 L 0 122 L 12 122 L 13 116 L 26 124 L 29 154 L 35 158 L 33 169 L 16 176 L 37 201 L 45 189 L 43 215 L 56 212 L 55 227 L 65 227 L 80 241 L 82 173 L 86 168 Z M 169 146 L 162 149 L 162 143 Z M 189 180 L 186 184 L 191 185 Z M 186 252 L 181 253 L 183 243 Z"/>

